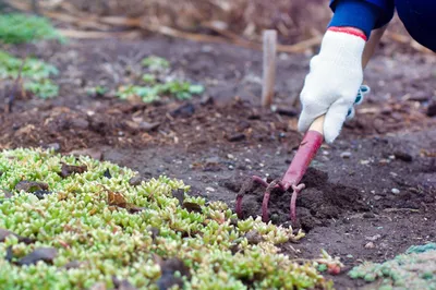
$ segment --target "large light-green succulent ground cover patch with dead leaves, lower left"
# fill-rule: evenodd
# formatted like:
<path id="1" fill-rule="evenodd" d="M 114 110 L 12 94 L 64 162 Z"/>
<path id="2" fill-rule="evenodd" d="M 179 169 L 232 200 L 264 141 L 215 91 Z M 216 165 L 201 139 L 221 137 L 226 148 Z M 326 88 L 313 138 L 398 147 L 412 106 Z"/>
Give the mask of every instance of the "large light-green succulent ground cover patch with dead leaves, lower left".
<path id="1" fill-rule="evenodd" d="M 235 221 L 226 204 L 190 197 L 180 180 L 133 182 L 135 174 L 84 156 L 4 150 L 0 285 L 113 288 L 118 279 L 141 289 L 331 287 L 316 263 L 298 264 L 279 253 L 277 244 L 302 238 L 292 229 Z M 52 249 L 51 256 L 35 255 L 41 247 Z"/>

